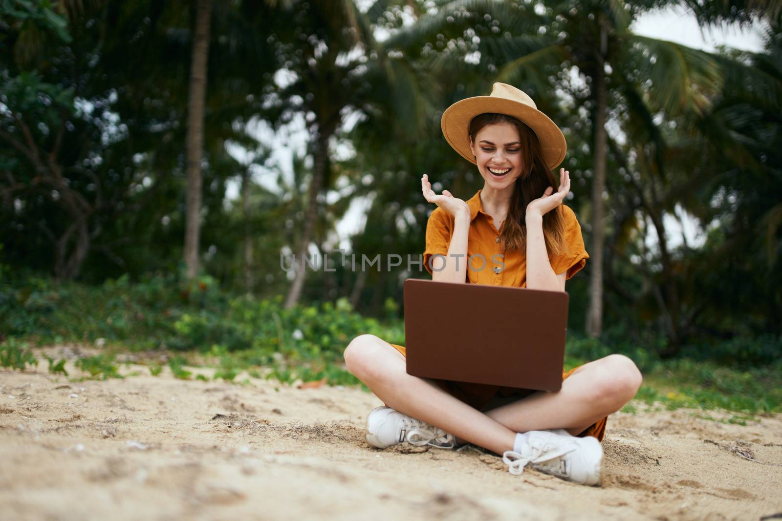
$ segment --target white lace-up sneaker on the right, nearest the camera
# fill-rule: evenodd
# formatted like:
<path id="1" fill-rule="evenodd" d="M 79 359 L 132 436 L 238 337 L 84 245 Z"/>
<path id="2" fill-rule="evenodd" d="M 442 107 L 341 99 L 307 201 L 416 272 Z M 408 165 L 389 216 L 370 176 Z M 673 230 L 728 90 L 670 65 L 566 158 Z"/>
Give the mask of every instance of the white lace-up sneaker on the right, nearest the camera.
<path id="1" fill-rule="evenodd" d="M 521 474 L 530 464 L 533 469 L 565 480 L 600 484 L 603 448 L 597 438 L 571 436 L 566 430 L 530 430 L 526 434 L 522 454 L 504 451 L 502 455 L 508 472 Z"/>

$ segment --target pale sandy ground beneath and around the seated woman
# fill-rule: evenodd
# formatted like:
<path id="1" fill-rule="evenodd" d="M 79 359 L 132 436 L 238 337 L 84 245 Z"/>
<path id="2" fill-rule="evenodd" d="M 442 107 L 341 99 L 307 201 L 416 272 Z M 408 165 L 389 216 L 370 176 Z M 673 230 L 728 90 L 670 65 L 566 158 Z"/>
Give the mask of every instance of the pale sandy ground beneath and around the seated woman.
<path id="1" fill-rule="evenodd" d="M 80 374 L 72 366 L 71 377 Z M 608 419 L 602 487 L 475 448 L 364 441 L 358 388 L 0 369 L 2 519 L 762 519 L 782 512 L 782 416 Z M 202 373 L 209 373 L 207 369 Z M 239 376 L 237 380 L 242 380 Z M 711 416 L 726 418 L 719 413 Z M 751 458 L 747 459 L 747 458 Z"/>

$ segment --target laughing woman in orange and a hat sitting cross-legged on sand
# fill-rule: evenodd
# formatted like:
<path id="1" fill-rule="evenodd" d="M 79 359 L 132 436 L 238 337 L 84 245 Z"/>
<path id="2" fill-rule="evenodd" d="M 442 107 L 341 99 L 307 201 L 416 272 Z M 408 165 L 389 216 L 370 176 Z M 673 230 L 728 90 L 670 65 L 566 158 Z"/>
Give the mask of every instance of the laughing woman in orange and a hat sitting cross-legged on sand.
<path id="1" fill-rule="evenodd" d="M 562 205 L 570 189 L 567 170 L 559 170 L 554 191 L 552 170 L 566 149 L 561 130 L 524 92 L 501 83 L 490 96 L 451 105 L 442 127 L 449 144 L 478 167 L 484 185 L 465 202 L 447 190 L 436 194 L 426 174 L 421 177 L 424 198 L 438 206 L 426 228 L 424 264 L 432 280 L 565 291 L 565 280 L 589 255 L 576 216 Z M 477 269 L 480 259 L 475 269 L 466 266 L 476 253 L 486 269 Z M 433 255 L 443 257 L 435 262 Z M 470 442 L 503 455 L 511 473 L 531 464 L 583 484 L 600 482 L 606 416 L 630 401 L 641 383 L 635 364 L 622 355 L 564 373 L 556 393 L 422 379 L 407 374 L 404 355 L 403 346 L 374 335 L 354 338 L 345 350 L 350 372 L 386 403 L 368 416 L 369 444 L 454 448 Z"/>

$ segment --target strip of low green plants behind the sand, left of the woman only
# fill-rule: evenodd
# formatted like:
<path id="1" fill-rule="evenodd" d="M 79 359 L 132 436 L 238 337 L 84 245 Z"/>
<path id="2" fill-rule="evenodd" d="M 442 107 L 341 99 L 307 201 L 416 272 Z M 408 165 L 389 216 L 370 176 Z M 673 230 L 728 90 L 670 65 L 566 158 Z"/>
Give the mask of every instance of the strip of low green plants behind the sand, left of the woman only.
<path id="1" fill-rule="evenodd" d="M 279 360 L 341 362 L 347 344 L 359 334 L 404 344 L 398 319 L 384 325 L 363 317 L 345 298 L 285 310 L 281 296 L 226 294 L 210 277 L 187 283 L 156 276 L 138 284 L 120 277 L 99 287 L 30 278 L 0 295 L 0 329 L 39 343 L 105 338 L 138 350 L 212 349 L 217 358 L 239 352 L 239 359 L 260 366 Z"/>

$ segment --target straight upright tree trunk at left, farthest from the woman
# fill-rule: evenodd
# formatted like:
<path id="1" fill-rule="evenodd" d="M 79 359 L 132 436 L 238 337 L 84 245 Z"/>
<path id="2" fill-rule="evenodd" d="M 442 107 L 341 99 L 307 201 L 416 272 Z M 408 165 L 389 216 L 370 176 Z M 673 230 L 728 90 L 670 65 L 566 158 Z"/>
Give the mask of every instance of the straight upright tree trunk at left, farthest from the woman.
<path id="1" fill-rule="evenodd" d="M 206 102 L 206 58 L 209 55 L 211 0 L 198 0 L 195 34 L 190 66 L 187 130 L 187 198 L 185 215 L 185 264 L 187 277 L 199 272 L 201 234 L 201 155 L 203 150 L 203 114 Z"/>

